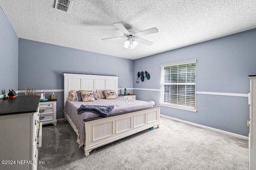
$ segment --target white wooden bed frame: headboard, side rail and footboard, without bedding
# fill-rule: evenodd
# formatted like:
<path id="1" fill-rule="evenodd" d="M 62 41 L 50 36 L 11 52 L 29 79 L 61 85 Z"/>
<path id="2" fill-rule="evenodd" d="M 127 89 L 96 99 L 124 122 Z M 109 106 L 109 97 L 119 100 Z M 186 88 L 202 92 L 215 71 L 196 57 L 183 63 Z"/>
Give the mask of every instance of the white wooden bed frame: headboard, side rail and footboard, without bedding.
<path id="1" fill-rule="evenodd" d="M 112 89 L 118 92 L 118 76 L 64 73 L 64 106 L 68 98 L 68 92 L 74 89 Z M 78 135 L 78 130 L 74 123 L 66 113 L 64 114 L 65 120 L 68 120 Z M 102 145 L 144 131 L 150 127 L 159 127 L 159 119 L 160 107 L 153 107 L 150 109 L 86 121 L 84 122 L 85 156 L 89 156 L 92 149 Z"/>

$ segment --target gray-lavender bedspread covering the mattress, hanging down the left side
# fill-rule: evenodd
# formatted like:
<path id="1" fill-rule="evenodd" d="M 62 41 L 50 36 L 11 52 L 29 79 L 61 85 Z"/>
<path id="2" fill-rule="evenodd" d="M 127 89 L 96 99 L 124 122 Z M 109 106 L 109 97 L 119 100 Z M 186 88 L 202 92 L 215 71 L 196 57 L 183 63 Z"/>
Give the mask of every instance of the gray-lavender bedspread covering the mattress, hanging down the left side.
<path id="1" fill-rule="evenodd" d="M 126 98 L 117 97 L 116 99 L 98 99 L 92 102 L 76 102 L 67 100 L 64 108 L 64 112 L 71 119 L 72 123 L 76 126 L 78 130 L 78 140 L 79 147 L 84 145 L 84 137 L 85 137 L 85 127 L 84 127 L 84 119 L 89 119 L 93 117 L 99 117 L 100 115 L 91 112 L 84 112 L 81 114 L 77 114 L 77 109 L 81 105 L 96 105 L 96 106 L 114 106 L 114 109 L 110 114 L 122 113 L 125 111 L 132 111 L 136 109 L 144 109 L 148 107 L 153 107 L 151 102 L 144 102 L 140 100 L 130 100 Z"/>

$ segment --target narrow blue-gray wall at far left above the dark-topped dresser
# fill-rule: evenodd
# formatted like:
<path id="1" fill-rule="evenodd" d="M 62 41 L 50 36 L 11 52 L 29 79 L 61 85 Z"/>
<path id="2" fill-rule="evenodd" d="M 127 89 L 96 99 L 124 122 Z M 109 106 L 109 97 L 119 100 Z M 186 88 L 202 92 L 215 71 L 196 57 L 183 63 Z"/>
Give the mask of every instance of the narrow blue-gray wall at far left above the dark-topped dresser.
<path id="1" fill-rule="evenodd" d="M 0 95 L 18 90 L 18 36 L 0 7 Z"/>

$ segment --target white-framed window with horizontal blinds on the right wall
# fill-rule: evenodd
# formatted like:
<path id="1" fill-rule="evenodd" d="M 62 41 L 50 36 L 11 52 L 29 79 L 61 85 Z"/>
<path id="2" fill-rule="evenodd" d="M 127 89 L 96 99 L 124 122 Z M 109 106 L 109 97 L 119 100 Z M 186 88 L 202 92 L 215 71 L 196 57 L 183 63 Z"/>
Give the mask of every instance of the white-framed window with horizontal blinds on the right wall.
<path id="1" fill-rule="evenodd" d="M 196 111 L 196 60 L 161 66 L 160 104 Z"/>

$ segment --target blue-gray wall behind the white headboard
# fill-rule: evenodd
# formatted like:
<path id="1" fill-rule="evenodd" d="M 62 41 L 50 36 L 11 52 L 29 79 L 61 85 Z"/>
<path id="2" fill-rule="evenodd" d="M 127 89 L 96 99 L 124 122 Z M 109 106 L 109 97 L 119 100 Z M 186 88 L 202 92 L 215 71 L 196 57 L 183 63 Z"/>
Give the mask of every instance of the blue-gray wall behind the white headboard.
<path id="1" fill-rule="evenodd" d="M 133 63 L 120 57 L 19 39 L 18 89 L 62 90 L 63 72 L 119 76 L 118 88 L 132 88 Z M 64 93 L 55 93 L 59 119 L 64 117 Z M 46 97 L 50 94 L 46 93 Z"/>

